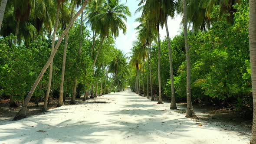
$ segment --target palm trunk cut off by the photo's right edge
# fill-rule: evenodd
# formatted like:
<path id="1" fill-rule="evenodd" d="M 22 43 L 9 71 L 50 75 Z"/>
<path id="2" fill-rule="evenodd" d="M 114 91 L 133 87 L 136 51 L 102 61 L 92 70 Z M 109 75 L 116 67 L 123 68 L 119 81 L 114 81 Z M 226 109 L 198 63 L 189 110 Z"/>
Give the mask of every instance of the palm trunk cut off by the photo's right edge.
<path id="1" fill-rule="evenodd" d="M 256 0 L 249 0 L 249 46 L 253 90 L 253 129 L 250 144 L 256 144 Z"/>

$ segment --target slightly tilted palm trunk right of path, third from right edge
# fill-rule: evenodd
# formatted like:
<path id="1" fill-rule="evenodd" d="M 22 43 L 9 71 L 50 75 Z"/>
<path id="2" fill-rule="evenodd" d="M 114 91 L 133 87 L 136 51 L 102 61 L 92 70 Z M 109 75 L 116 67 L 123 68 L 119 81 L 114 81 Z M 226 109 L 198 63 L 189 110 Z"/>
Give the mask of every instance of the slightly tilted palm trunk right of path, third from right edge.
<path id="1" fill-rule="evenodd" d="M 172 56 L 171 56 L 171 42 L 170 42 L 169 30 L 168 30 L 168 26 L 167 26 L 167 20 L 165 21 L 165 28 L 166 28 L 167 42 L 168 42 L 168 49 L 169 49 L 169 64 L 170 64 L 170 75 L 171 75 L 171 106 L 170 106 L 170 109 L 177 109 L 176 101 L 175 101 L 175 93 L 174 93 L 174 76 L 173 76 Z"/>

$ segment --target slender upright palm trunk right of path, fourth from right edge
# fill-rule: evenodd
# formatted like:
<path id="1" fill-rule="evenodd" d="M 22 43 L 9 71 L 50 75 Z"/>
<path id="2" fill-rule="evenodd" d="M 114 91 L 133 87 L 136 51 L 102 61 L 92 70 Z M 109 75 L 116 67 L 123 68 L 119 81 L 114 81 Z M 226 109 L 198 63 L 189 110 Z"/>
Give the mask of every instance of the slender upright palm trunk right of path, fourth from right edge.
<path id="1" fill-rule="evenodd" d="M 160 34 L 159 34 L 159 24 L 158 24 L 158 104 L 163 104 L 161 96 L 161 49 L 160 49 Z"/>

